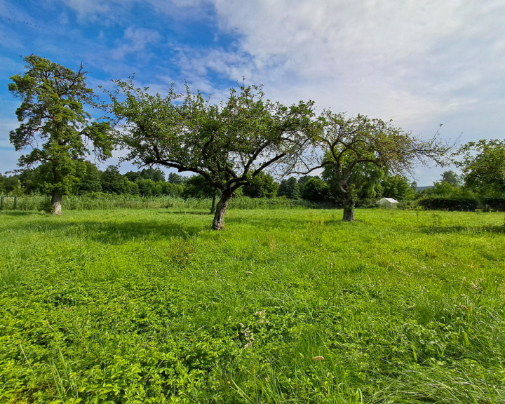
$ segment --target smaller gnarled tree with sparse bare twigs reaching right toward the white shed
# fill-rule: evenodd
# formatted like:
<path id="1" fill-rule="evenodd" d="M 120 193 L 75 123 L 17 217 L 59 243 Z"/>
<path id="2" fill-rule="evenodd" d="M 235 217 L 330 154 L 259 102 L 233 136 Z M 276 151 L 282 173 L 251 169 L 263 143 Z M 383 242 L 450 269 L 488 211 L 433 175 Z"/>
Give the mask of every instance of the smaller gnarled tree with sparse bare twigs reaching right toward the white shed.
<path id="1" fill-rule="evenodd" d="M 324 130 L 317 135 L 316 146 L 321 148 L 323 157 L 312 170 L 331 170 L 333 189 L 344 204 L 344 221 L 354 220 L 357 189 L 353 175 L 363 166 L 401 174 L 410 172 L 416 162 L 435 161 L 443 165 L 445 154 L 450 150 L 437 135 L 431 140 L 421 140 L 390 122 L 364 115 L 348 118 L 325 111 L 321 119 Z"/>

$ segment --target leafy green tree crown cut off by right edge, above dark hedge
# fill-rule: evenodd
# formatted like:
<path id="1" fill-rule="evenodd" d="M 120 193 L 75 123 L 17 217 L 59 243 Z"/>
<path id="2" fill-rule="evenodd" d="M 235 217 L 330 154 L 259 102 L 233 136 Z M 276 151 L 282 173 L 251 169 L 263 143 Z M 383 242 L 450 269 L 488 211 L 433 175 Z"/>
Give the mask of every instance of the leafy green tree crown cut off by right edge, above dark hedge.
<path id="1" fill-rule="evenodd" d="M 462 168 L 465 187 L 480 195 L 505 191 L 505 142 L 479 140 L 462 146 L 454 161 Z"/>

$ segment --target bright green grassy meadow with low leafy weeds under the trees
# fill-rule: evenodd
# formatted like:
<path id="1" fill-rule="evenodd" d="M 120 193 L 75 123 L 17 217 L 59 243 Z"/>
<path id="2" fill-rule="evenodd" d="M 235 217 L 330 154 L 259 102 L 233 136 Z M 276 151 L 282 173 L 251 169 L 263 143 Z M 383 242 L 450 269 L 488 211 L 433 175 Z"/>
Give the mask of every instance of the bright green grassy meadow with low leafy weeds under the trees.
<path id="1" fill-rule="evenodd" d="M 504 403 L 504 214 L 341 217 L 0 213 L 0 403 Z"/>

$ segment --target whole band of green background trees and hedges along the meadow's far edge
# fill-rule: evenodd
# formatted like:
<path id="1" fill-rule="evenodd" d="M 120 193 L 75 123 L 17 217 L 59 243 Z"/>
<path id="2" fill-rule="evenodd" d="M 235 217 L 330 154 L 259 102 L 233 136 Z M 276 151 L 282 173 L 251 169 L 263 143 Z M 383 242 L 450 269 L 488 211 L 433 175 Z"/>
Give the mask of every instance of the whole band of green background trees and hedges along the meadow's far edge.
<path id="1" fill-rule="evenodd" d="M 501 160 L 489 159 L 491 152 L 497 154 L 502 148 Z M 501 143 L 480 141 L 483 147 L 479 154 L 473 154 L 471 161 L 463 163 L 454 160 L 462 168 L 462 175 L 447 170 L 433 185 L 418 190 L 416 182 L 410 182 L 402 175 L 386 175 L 384 170 L 373 166 L 363 166 L 354 173 L 356 184 L 356 206 L 375 206 L 382 197 L 395 198 L 408 204 L 418 204 L 425 208 L 449 210 L 474 210 L 480 205 L 495 210 L 505 209 L 505 146 Z M 501 145 L 500 145 L 501 144 Z M 462 150 L 466 150 L 466 145 Z M 215 189 L 208 186 L 201 175 L 184 176 L 168 173 L 158 168 L 144 168 L 121 174 L 116 166 L 99 170 L 90 161 L 84 161 L 86 170 L 76 180 L 69 194 L 116 194 L 132 196 L 174 196 L 180 198 L 212 198 Z M 15 175 L 0 174 L 0 194 L 24 195 L 45 194 L 45 173 L 41 167 L 23 170 Z M 321 176 L 302 175 L 275 181 L 268 173 L 260 173 L 253 180 L 238 189 L 234 196 L 250 198 L 287 198 L 318 203 L 321 206 L 342 208 L 344 201 L 334 191 L 331 171 L 324 170 Z"/>

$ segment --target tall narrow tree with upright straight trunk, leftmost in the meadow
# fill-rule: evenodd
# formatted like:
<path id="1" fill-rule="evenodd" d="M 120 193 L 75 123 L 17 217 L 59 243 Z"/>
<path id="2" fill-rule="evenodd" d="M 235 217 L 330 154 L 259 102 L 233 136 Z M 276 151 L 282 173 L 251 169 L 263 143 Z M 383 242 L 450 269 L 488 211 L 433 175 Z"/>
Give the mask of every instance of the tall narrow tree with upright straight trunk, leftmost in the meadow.
<path id="1" fill-rule="evenodd" d="M 31 149 L 20 157 L 18 166 L 43 165 L 48 180 L 53 213 L 62 213 L 62 197 L 76 185 L 79 173 L 86 170 L 83 158 L 111 156 L 112 137 L 108 121 L 91 121 L 83 104 L 92 102 L 93 90 L 86 87 L 83 67 L 72 69 L 37 55 L 25 58 L 27 72 L 11 76 L 8 88 L 21 99 L 16 110 L 19 128 L 10 133 L 16 150 Z"/>

